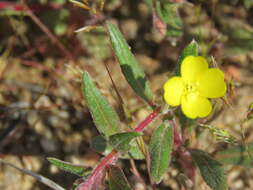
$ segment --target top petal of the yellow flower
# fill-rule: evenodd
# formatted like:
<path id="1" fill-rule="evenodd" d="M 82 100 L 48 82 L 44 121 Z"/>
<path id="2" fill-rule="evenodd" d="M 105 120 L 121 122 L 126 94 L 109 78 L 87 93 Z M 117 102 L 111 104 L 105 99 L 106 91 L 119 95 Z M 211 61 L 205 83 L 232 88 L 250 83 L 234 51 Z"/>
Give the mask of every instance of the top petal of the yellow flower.
<path id="1" fill-rule="evenodd" d="M 181 75 L 185 82 L 195 82 L 206 70 L 208 63 L 204 57 L 188 56 L 181 65 Z"/>

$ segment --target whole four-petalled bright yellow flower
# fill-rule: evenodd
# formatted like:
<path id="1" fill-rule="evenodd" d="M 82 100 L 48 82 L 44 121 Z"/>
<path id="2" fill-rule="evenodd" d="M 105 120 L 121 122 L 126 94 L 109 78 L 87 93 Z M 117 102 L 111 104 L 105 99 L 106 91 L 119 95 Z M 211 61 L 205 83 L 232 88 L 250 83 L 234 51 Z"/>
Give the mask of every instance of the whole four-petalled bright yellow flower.
<path id="1" fill-rule="evenodd" d="M 212 111 L 209 98 L 219 98 L 226 93 L 224 73 L 218 68 L 208 68 L 201 56 L 188 56 L 181 64 L 181 77 L 170 78 L 163 86 L 164 99 L 171 106 L 179 106 L 191 118 L 206 117 Z"/>

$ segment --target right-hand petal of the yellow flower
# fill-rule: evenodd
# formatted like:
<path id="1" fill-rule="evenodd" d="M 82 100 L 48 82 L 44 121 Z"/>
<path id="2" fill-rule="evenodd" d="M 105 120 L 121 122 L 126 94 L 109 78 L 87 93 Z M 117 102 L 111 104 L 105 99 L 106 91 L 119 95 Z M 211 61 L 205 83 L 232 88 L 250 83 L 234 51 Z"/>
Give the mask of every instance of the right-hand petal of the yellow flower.
<path id="1" fill-rule="evenodd" d="M 227 87 L 224 73 L 217 68 L 208 69 L 198 80 L 199 93 L 207 98 L 219 98 L 225 95 Z"/>

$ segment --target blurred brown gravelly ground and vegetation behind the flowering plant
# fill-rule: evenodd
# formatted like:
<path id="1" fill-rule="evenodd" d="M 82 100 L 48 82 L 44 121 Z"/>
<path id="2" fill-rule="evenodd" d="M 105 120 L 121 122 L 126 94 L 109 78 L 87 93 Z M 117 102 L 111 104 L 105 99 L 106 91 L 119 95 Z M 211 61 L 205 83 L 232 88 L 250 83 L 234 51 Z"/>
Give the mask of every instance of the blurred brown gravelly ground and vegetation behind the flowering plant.
<path id="1" fill-rule="evenodd" d="M 50 166 L 46 157 L 94 167 L 101 158 L 90 146 L 98 135 L 85 106 L 80 77 L 87 70 L 109 102 L 120 110 L 107 74 L 127 103 L 134 126 L 150 112 L 130 90 L 120 72 L 104 29 L 75 31 L 84 26 L 117 23 L 146 72 L 157 99 L 175 69 L 180 52 L 195 39 L 200 54 L 213 56 L 226 74 L 228 105 L 212 125 L 241 139 L 240 123 L 253 101 L 252 0 L 106 0 L 101 13 L 73 6 L 67 0 L 0 1 L 0 156 L 70 188 L 76 177 Z M 100 0 L 88 1 L 93 9 Z M 211 59 L 210 59 L 211 60 Z M 128 121 L 129 122 L 129 121 Z M 127 121 L 122 117 L 122 125 Z M 253 142 L 252 123 L 244 126 Z M 152 128 L 145 131 L 150 136 Z M 208 130 L 189 130 L 193 148 L 210 153 L 229 144 L 217 142 Z M 120 161 L 135 189 L 144 189 Z M 147 177 L 145 162 L 136 165 Z M 233 190 L 253 189 L 251 163 L 227 166 Z M 170 168 L 160 189 L 180 189 L 180 169 Z M 178 177 L 179 176 L 179 177 Z M 0 166 L 0 189 L 45 190 L 46 186 L 7 166 Z M 196 189 L 207 189 L 197 178 Z"/>

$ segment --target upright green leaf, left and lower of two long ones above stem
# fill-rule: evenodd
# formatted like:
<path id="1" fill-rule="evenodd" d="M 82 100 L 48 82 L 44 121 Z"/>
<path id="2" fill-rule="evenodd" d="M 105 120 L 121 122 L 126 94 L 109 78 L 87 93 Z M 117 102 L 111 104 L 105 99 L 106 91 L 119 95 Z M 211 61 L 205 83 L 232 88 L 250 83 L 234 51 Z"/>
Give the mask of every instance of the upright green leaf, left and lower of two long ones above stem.
<path id="1" fill-rule="evenodd" d="M 120 131 L 117 113 L 101 95 L 88 72 L 83 75 L 83 94 L 91 116 L 100 133 L 107 139 Z"/>

